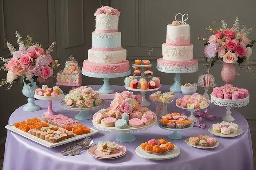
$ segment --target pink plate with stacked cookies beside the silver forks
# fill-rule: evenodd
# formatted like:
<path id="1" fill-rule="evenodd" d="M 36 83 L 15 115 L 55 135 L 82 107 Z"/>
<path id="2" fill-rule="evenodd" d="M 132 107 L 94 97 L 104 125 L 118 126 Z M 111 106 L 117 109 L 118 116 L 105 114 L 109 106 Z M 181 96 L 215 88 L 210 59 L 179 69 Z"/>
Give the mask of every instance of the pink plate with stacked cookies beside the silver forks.
<path id="1" fill-rule="evenodd" d="M 105 159 L 106 158 L 117 158 L 117 157 L 125 155 L 125 153 L 126 153 L 126 147 L 119 144 L 117 146 L 117 151 L 115 153 L 110 153 L 109 155 L 103 155 L 97 151 L 97 145 L 98 144 L 96 144 L 96 145 L 92 146 L 90 149 L 88 149 L 88 154 L 95 158 L 105 158 Z"/>

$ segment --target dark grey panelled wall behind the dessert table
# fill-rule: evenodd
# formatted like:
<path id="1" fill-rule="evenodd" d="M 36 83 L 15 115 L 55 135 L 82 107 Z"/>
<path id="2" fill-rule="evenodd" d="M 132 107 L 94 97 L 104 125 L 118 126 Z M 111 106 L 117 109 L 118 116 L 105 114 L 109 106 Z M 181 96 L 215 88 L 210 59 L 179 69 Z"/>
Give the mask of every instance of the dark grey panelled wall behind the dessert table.
<path id="1" fill-rule="evenodd" d="M 166 25 L 174 20 L 176 13 L 188 13 L 190 39 L 194 44 L 194 57 L 200 62 L 200 70 L 197 73 L 181 75 L 181 78 L 182 83 L 196 82 L 199 73 L 204 68 L 203 42 L 196 41 L 196 39 L 198 36 L 210 36 L 205 28 L 212 26 L 213 21 L 220 24 L 220 20 L 225 19 L 232 26 L 236 16 L 239 16 L 241 26 L 245 24 L 247 28 L 254 27 L 249 37 L 256 39 L 256 22 L 252 19 L 256 16 L 255 0 L 205 2 L 204 0 L 0 0 L 0 56 L 10 57 L 4 39 L 17 46 L 15 32 L 18 31 L 23 37 L 32 35 L 33 40 L 39 41 L 45 47 L 54 40 L 57 41 L 53 57 L 60 61 L 61 66 L 55 70 L 55 74 L 64 67 L 64 61 L 71 54 L 82 67 L 83 60 L 87 59 L 88 49 L 92 44 L 91 34 L 95 27 L 94 11 L 101 5 L 109 5 L 119 9 L 121 13 L 119 31 L 122 32 L 122 47 L 127 49 L 127 59 L 130 63 L 136 59 L 151 60 L 153 72 L 161 77 L 161 83 L 170 85 L 173 84 L 174 75 L 157 71 L 155 69 L 156 59 L 162 56 Z M 151 55 L 148 54 L 150 46 L 153 47 Z M 255 47 L 252 49 L 251 61 L 255 69 Z M 224 84 L 220 77 L 221 69 L 222 63 L 220 62 L 211 68 L 218 86 Z M 0 78 L 5 76 L 6 72 L 1 71 Z M 124 85 L 123 79 L 110 79 L 110 84 Z M 55 82 L 56 80 L 52 79 L 49 85 Z M 83 76 L 83 85 L 89 84 L 102 84 L 102 79 Z M 253 143 L 256 144 L 255 80 L 243 70 L 241 76 L 236 77 L 233 84 L 240 88 L 247 88 L 251 94 L 247 107 L 234 109 L 247 119 Z M 0 94 L 4 96 L 0 102 L 0 143 L 5 141 L 7 130 L 4 126 L 9 116 L 13 110 L 26 103 L 26 97 L 22 95 L 21 89 L 18 83 L 13 85 L 10 91 L 6 91 L 4 87 L 0 88 Z M 64 88 L 64 91 L 69 89 Z M 203 93 L 203 90 L 198 88 L 198 92 Z"/>

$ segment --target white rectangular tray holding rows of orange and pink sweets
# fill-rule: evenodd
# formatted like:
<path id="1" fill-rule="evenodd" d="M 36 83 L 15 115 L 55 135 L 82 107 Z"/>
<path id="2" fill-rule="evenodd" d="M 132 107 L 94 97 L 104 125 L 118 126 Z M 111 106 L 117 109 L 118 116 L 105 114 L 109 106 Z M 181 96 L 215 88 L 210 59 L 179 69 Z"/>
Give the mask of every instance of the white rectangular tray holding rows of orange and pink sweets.
<path id="1" fill-rule="evenodd" d="M 42 118 L 43 117 L 38 117 L 38 119 L 40 119 L 42 121 Z M 50 126 L 53 126 L 50 124 Z M 53 147 L 56 147 L 56 146 L 60 146 L 60 145 L 63 145 L 63 144 L 67 144 L 69 142 L 72 142 L 72 141 L 76 141 L 76 140 L 79 140 L 79 139 L 83 139 L 85 137 L 88 137 L 88 136 L 91 136 L 91 135 L 94 135 L 95 133 L 98 132 L 98 130 L 95 130 L 93 128 L 90 128 L 91 131 L 90 133 L 87 133 L 87 134 L 83 134 L 83 135 L 75 135 L 75 137 L 71 137 L 71 138 L 68 138 L 68 139 L 65 139 L 65 140 L 62 140 L 62 141 L 59 141 L 59 142 L 56 142 L 55 144 L 52 144 L 50 142 L 47 142 L 43 139 L 40 139 L 34 135 L 30 135 L 28 132 L 24 132 L 18 128 L 16 128 L 14 126 L 14 124 L 10 124 L 10 125 L 6 125 L 5 128 L 7 128 L 8 130 L 11 130 L 13 132 L 16 132 L 18 133 L 19 135 L 23 136 L 23 137 L 26 137 L 27 139 L 30 139 L 38 144 L 41 144 L 43 146 L 46 146 L 48 148 L 53 148 Z"/>

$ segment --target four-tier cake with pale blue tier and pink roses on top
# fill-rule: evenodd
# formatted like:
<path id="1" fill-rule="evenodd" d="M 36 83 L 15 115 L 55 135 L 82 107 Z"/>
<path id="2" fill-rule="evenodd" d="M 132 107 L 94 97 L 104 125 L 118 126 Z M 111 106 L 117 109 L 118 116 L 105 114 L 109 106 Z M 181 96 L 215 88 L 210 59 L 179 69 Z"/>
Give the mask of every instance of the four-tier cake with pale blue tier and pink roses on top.
<path id="1" fill-rule="evenodd" d="M 126 49 L 121 47 L 121 32 L 118 31 L 119 11 L 104 6 L 94 15 L 96 24 L 92 32 L 92 49 L 88 50 L 88 60 L 83 61 L 83 71 L 97 74 L 130 71 Z"/>

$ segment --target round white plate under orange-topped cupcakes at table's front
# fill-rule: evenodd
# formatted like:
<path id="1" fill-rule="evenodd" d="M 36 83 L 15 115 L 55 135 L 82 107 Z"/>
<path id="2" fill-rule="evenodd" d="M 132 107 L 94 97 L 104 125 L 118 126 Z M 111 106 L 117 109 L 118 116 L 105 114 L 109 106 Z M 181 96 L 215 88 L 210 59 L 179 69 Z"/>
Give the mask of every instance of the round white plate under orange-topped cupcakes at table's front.
<path id="1" fill-rule="evenodd" d="M 171 152 L 168 152 L 166 154 L 159 154 L 159 155 L 155 155 L 153 153 L 148 153 L 146 151 L 144 151 L 143 149 L 141 149 L 140 146 L 138 146 L 135 149 L 135 152 L 137 155 L 139 155 L 140 157 L 146 158 L 146 159 L 154 159 L 154 160 L 164 160 L 164 159 L 172 159 L 177 157 L 178 155 L 180 155 L 180 148 L 178 148 L 176 145 L 174 145 L 174 149 Z"/>

